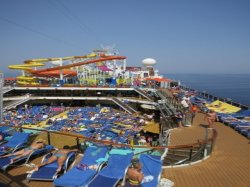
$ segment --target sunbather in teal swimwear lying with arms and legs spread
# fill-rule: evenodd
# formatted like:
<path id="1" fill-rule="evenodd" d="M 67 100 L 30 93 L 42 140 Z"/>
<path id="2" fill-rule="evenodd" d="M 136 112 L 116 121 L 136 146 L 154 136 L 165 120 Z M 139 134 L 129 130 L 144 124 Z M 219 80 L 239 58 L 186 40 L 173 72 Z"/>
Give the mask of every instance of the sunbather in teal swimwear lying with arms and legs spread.
<path id="1" fill-rule="evenodd" d="M 58 149 L 57 151 L 55 151 L 53 153 L 53 155 L 47 161 L 36 166 L 35 169 L 28 171 L 28 173 L 31 173 L 33 171 L 38 171 L 40 167 L 48 165 L 54 161 L 57 161 L 58 168 L 57 168 L 56 172 L 59 172 L 59 171 L 61 171 L 62 166 L 64 164 L 64 161 L 67 159 L 67 155 L 70 152 L 78 152 L 78 149 L 69 149 L 69 146 L 64 146 L 63 149 Z"/>

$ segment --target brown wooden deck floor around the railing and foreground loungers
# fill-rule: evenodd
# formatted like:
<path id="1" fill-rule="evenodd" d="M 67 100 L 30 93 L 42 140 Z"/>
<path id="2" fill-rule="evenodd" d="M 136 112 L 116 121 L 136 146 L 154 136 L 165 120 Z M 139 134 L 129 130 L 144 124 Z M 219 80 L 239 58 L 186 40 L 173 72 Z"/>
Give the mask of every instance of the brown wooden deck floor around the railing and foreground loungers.
<path id="1" fill-rule="evenodd" d="M 171 145 L 195 143 L 204 139 L 205 130 L 199 124 L 204 123 L 203 114 L 198 114 L 194 125 L 174 129 L 171 133 Z M 216 123 L 218 137 L 214 152 L 203 162 L 191 166 L 164 169 L 162 177 L 170 179 L 176 187 L 227 186 L 244 187 L 250 184 L 250 149 L 249 140 L 233 129 Z M 32 163 L 37 164 L 40 158 Z M 52 187 L 51 182 L 25 181 L 26 166 L 10 169 L 6 174 L 0 173 L 0 187 Z"/>

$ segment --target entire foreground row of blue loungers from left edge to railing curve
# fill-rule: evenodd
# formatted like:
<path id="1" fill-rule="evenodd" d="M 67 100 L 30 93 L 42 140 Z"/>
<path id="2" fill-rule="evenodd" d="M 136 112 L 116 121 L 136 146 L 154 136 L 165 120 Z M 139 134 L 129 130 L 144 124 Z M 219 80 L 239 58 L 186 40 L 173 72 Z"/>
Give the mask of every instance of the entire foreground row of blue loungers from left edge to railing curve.
<path id="1" fill-rule="evenodd" d="M 6 143 L 1 145 L 12 146 L 12 152 L 23 148 L 28 141 L 29 134 L 17 132 L 13 134 L 13 137 Z M 0 169 L 6 171 L 10 166 L 18 165 L 18 163 L 28 163 L 31 157 L 39 156 L 47 153 L 42 162 L 45 162 L 51 155 L 51 151 L 54 149 L 51 145 L 46 145 L 44 148 L 34 150 L 30 155 L 15 160 L 10 164 L 10 160 L 15 156 L 9 156 L 0 159 Z M 2 153 L 6 154 L 6 152 Z M 61 172 L 57 172 L 57 162 L 47 164 L 37 171 L 33 171 L 27 175 L 28 181 L 30 180 L 46 180 L 53 181 L 55 186 L 102 186 L 110 187 L 116 186 L 124 176 L 131 164 L 131 160 L 134 157 L 134 153 L 130 149 L 109 149 L 107 146 L 89 146 L 82 157 L 81 161 L 75 165 L 72 164 L 76 158 L 76 152 L 70 152 L 67 155 L 63 169 Z M 140 162 L 143 165 L 144 175 L 152 175 L 154 179 L 148 183 L 143 183 L 142 186 L 157 186 L 159 177 L 161 174 L 162 162 L 160 157 L 142 154 L 139 157 Z M 74 165 L 71 169 L 70 164 Z M 95 169 L 82 168 L 81 166 L 97 166 Z M 67 171 L 67 172 L 66 172 Z M 59 177 L 60 176 L 60 177 Z M 125 179 L 125 178 L 124 178 Z"/>

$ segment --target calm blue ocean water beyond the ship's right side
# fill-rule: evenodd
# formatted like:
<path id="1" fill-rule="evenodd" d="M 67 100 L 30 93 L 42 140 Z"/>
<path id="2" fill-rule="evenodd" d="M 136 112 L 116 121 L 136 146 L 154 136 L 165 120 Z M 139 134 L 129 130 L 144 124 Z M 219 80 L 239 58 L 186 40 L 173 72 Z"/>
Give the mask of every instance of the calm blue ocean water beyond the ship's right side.
<path id="1" fill-rule="evenodd" d="M 182 85 L 250 106 L 250 74 L 164 74 Z"/>

